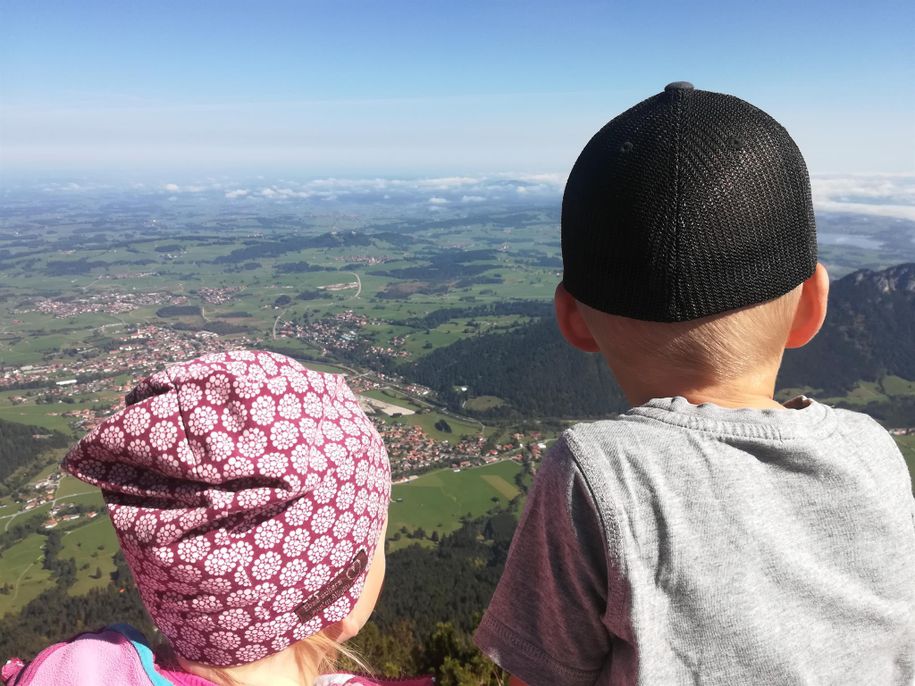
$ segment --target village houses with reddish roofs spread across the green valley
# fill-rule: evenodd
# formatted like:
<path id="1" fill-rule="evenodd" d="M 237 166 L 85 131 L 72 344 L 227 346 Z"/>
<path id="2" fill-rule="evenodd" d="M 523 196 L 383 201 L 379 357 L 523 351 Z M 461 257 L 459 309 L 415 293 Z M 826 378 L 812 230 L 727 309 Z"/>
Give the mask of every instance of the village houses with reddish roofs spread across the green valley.
<path id="1" fill-rule="evenodd" d="M 203 303 L 226 304 L 239 290 L 201 288 L 200 299 Z M 159 292 L 103 293 L 72 300 L 35 298 L 13 314 L 21 317 L 39 312 L 66 319 L 99 312 L 126 314 L 143 305 L 183 307 L 187 302 L 186 296 Z M 359 330 L 369 324 L 378 324 L 352 310 L 343 310 L 306 326 L 283 319 L 281 308 L 274 309 L 279 314 L 269 336 L 222 336 L 205 328 L 188 331 L 167 325 L 124 321 L 103 325 L 99 329 L 105 334 L 104 350 L 93 346 L 74 347 L 45 356 L 46 359 L 37 364 L 0 368 L 3 398 L 0 402 L 9 410 L 4 416 L 15 418 L 17 407 L 40 406 L 46 418 L 58 418 L 72 435 L 78 436 L 121 409 L 124 396 L 135 379 L 175 362 L 210 352 L 262 347 L 265 339 L 301 340 L 314 345 L 323 357 L 328 357 L 355 350 L 361 340 Z M 13 325 L 21 323 L 18 318 L 11 320 Z M 371 356 L 404 357 L 410 353 L 401 347 L 403 342 L 403 337 L 395 336 L 388 345 L 369 345 L 365 350 Z M 308 366 L 309 362 L 304 360 L 304 364 Z M 397 483 L 409 483 L 436 468 L 457 472 L 506 459 L 520 463 L 523 459 L 539 458 L 546 448 L 544 436 L 539 431 L 495 435 L 492 427 L 478 420 L 454 416 L 436 407 L 430 402 L 434 397 L 431 389 L 396 375 L 326 361 L 317 367 L 347 375 L 349 385 L 384 440 Z M 94 401 L 87 403 L 87 398 Z M 430 424 L 431 433 L 425 428 Z M 41 440 L 43 436 L 46 434 L 36 429 L 33 438 Z M 9 505 L 0 515 L 0 531 L 8 529 L 18 515 L 26 515 L 36 508 L 46 510 L 47 516 L 40 522 L 44 530 L 79 520 L 90 521 L 104 512 L 101 503 L 74 502 L 74 498 L 96 493 L 88 486 L 61 495 L 61 483 L 67 480 L 72 481 L 59 470 L 52 469 L 43 478 L 13 491 Z"/>

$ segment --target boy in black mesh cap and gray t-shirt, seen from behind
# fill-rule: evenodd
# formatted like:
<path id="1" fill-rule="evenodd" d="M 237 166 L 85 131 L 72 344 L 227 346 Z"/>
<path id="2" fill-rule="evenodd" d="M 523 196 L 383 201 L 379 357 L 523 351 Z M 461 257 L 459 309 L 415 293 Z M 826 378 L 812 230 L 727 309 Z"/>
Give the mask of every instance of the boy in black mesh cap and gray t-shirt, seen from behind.
<path id="1" fill-rule="evenodd" d="M 915 683 L 915 507 L 869 417 L 773 399 L 826 314 L 806 166 L 677 82 L 582 151 L 556 313 L 633 409 L 543 460 L 478 645 L 532 686 Z"/>

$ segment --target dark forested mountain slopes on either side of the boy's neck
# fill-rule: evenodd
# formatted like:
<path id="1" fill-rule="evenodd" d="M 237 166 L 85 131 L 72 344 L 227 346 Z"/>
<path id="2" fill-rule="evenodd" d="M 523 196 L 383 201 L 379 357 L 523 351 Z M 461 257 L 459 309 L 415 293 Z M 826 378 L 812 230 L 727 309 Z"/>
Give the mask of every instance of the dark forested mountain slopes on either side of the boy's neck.
<path id="1" fill-rule="evenodd" d="M 455 410 L 472 414 L 464 401 L 474 396 L 504 401 L 480 416 L 585 418 L 627 407 L 603 360 L 567 345 L 552 317 L 458 341 L 401 371 Z M 813 387 L 828 397 L 885 374 L 915 379 L 915 264 L 833 282 L 822 331 L 787 351 L 778 387 Z"/>

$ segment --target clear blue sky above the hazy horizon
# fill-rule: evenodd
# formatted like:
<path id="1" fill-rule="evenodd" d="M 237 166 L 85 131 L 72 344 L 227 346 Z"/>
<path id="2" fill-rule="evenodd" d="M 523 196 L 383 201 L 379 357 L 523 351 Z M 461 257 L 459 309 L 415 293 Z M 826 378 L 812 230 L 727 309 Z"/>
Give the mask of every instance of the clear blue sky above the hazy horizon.
<path id="1" fill-rule="evenodd" d="M 913 35 L 909 0 L 0 0 L 0 165 L 565 173 L 683 79 L 775 116 L 814 173 L 913 174 Z"/>

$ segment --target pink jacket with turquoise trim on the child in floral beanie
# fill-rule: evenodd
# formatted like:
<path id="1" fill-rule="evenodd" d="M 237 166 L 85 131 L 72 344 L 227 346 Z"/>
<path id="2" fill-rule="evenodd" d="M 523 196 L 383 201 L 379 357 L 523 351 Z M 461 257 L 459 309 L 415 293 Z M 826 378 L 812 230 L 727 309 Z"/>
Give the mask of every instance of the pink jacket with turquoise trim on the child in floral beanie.
<path id="1" fill-rule="evenodd" d="M 433 686 L 431 677 L 377 681 L 328 675 L 337 686 Z M 319 680 L 324 681 L 325 678 Z M 212 681 L 156 664 L 146 638 L 129 624 L 80 634 L 41 651 L 29 664 L 9 660 L 0 670 L 6 686 L 216 686 Z"/>

